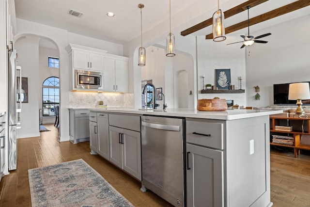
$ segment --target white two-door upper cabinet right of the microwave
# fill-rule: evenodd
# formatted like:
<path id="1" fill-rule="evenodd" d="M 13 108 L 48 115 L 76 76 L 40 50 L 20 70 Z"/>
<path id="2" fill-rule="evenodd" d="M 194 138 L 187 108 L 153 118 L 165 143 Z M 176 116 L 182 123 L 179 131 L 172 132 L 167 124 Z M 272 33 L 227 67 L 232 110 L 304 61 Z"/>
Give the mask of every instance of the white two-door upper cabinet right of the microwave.
<path id="1" fill-rule="evenodd" d="M 128 58 L 106 54 L 104 58 L 104 91 L 128 91 Z"/>

